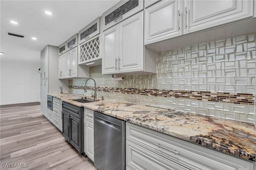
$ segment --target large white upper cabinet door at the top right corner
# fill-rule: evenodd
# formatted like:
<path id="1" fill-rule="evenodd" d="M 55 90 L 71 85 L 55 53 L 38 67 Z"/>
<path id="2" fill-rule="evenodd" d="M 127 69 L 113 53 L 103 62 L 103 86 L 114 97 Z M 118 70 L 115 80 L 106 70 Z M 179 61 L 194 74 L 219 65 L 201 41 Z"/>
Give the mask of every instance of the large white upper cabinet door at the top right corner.
<path id="1" fill-rule="evenodd" d="M 183 34 L 250 18 L 253 0 L 185 0 Z"/>

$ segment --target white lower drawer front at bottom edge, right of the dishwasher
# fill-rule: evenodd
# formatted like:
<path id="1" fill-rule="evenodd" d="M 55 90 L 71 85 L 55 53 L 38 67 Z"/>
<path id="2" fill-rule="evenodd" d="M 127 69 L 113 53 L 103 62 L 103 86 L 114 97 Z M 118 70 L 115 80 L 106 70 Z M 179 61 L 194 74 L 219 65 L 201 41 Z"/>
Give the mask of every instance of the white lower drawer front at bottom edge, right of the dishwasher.
<path id="1" fill-rule="evenodd" d="M 126 140 L 126 166 L 132 170 L 184 170 L 178 159 L 168 160 L 133 142 Z"/>

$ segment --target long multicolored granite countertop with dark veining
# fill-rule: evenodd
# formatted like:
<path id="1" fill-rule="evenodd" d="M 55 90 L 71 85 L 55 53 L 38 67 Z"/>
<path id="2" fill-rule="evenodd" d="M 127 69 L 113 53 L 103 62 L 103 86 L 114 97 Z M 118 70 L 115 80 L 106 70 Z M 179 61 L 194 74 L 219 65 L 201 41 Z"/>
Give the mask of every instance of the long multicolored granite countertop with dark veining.
<path id="1" fill-rule="evenodd" d="M 86 107 L 142 127 L 256 162 L 256 127 L 252 123 L 115 100 L 79 103 L 72 99 L 86 96 L 72 93 L 58 94 L 60 93 L 49 95 L 79 107 Z"/>

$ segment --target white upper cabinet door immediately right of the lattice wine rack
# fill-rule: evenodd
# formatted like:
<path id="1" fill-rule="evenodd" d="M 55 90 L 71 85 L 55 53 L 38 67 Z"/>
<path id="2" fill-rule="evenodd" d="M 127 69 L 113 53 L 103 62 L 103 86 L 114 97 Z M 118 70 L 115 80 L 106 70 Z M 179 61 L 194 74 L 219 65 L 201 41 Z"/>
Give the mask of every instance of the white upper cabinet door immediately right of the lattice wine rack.
<path id="1" fill-rule="evenodd" d="M 102 38 L 102 74 L 117 73 L 118 62 L 118 25 L 103 32 Z"/>

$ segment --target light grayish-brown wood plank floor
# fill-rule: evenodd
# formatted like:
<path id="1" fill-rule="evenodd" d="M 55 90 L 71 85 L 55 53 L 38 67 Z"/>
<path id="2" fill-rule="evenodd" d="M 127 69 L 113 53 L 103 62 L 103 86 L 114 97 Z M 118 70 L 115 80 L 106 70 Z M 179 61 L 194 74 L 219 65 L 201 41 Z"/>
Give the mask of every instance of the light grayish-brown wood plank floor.
<path id="1" fill-rule="evenodd" d="M 40 112 L 39 103 L 0 107 L 0 169 L 96 170 Z M 25 163 L 27 168 L 4 168 Z"/>

